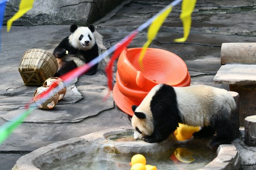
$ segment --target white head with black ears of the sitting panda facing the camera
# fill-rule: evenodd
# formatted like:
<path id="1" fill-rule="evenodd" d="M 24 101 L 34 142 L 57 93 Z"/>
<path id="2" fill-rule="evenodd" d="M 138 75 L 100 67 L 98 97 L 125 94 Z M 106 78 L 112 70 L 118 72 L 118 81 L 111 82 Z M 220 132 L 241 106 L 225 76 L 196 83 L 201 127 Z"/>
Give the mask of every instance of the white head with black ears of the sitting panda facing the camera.
<path id="1" fill-rule="evenodd" d="M 70 26 L 70 32 L 72 34 L 69 36 L 69 42 L 76 49 L 89 50 L 95 45 L 94 31 L 95 28 L 93 25 L 89 25 L 88 27 L 72 25 Z"/>

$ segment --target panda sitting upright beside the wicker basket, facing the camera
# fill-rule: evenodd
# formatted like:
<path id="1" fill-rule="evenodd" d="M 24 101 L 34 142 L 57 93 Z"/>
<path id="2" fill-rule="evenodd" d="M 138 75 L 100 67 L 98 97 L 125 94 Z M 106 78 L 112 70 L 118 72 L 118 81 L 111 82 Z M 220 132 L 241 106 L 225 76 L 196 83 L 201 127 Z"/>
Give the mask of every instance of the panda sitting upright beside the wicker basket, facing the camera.
<path id="1" fill-rule="evenodd" d="M 88 27 L 70 26 L 71 35 L 64 38 L 53 51 L 53 55 L 58 61 L 58 71 L 55 77 L 80 67 L 99 56 L 98 45 L 93 36 L 94 31 L 93 25 Z M 86 74 L 96 74 L 97 67 L 98 65 L 94 65 Z"/>

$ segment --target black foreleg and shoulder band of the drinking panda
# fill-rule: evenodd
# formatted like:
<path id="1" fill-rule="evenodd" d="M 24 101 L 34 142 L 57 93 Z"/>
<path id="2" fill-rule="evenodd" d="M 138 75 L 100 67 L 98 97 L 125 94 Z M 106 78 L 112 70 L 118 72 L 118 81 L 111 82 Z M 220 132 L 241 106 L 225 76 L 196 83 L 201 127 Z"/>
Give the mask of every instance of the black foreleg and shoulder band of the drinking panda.
<path id="1" fill-rule="evenodd" d="M 145 142 L 162 142 L 183 123 L 178 110 L 174 88 L 163 85 L 152 97 L 150 109 L 154 119 L 154 132 Z"/>

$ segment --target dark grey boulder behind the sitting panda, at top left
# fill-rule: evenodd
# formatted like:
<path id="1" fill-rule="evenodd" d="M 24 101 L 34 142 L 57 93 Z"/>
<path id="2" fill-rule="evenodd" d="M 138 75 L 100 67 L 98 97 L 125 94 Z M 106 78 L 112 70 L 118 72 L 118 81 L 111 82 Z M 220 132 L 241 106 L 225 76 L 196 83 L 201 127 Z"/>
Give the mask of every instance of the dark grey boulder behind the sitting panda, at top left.
<path id="1" fill-rule="evenodd" d="M 35 0 L 33 8 L 13 22 L 13 26 L 70 25 L 87 26 L 104 17 L 123 0 Z M 9 0 L 3 25 L 19 9 L 20 0 Z"/>

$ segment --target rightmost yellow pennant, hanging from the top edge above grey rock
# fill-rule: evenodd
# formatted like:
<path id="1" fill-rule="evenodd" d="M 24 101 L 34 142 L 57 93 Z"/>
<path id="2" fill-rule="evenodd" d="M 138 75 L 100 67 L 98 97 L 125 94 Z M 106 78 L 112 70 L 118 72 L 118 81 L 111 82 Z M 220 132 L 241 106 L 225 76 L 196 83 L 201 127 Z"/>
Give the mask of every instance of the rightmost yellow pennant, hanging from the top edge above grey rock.
<path id="1" fill-rule="evenodd" d="M 185 42 L 189 37 L 189 31 L 191 27 L 191 14 L 195 8 L 196 0 L 183 0 L 181 6 L 180 19 L 183 23 L 183 38 L 175 39 L 174 42 Z"/>

